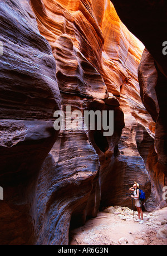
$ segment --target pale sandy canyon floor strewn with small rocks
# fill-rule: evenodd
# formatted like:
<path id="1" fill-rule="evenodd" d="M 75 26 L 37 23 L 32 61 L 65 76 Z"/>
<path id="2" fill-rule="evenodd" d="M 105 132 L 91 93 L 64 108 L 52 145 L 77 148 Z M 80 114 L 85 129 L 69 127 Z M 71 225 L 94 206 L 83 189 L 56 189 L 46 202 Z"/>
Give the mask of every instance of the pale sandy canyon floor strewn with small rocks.
<path id="1" fill-rule="evenodd" d="M 108 207 L 70 231 L 70 245 L 167 245 L 167 207 L 144 212 L 144 223 L 127 207 Z"/>

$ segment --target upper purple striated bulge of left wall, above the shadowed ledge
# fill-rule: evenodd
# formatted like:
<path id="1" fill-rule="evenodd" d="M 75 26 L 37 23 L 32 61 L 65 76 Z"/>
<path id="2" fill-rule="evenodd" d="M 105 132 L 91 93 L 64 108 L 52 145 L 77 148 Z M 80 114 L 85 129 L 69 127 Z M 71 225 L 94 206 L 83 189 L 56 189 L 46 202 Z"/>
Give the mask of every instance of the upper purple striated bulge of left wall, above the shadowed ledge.
<path id="1" fill-rule="evenodd" d="M 1 118 L 51 119 L 53 108 L 60 108 L 51 46 L 28 3 L 3 1 L 1 13 Z"/>

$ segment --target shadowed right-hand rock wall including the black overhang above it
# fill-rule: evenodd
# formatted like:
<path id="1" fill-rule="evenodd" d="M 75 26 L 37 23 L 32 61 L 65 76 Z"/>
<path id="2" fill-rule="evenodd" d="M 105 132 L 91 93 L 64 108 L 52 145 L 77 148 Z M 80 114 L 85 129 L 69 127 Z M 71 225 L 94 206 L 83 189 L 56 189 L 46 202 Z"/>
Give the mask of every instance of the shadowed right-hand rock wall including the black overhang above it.
<path id="1" fill-rule="evenodd" d="M 112 3 L 114 3 L 121 21 L 146 47 L 138 72 L 140 95 L 145 108 L 156 122 L 155 146 L 152 153 L 149 154 L 149 166 L 151 177 L 154 176 L 158 191 L 162 191 L 163 187 L 166 186 L 167 176 L 167 127 L 165 120 L 167 71 L 166 55 L 163 54 L 163 43 L 166 41 L 164 38 L 166 2 L 142 0 L 139 3 L 131 0 L 126 2 L 113 0 Z M 142 19 L 140 18 L 141 15 Z M 161 203 L 165 204 L 164 200 Z"/>

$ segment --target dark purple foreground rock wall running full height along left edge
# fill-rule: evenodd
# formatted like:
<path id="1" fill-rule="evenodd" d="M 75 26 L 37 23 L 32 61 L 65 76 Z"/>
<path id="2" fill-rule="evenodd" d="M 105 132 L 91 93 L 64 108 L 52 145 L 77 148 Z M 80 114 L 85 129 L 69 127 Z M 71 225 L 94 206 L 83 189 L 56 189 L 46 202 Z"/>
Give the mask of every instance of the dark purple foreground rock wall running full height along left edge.
<path id="1" fill-rule="evenodd" d="M 0 244 L 35 244 L 40 168 L 58 132 L 56 62 L 28 1 L 1 1 Z"/>

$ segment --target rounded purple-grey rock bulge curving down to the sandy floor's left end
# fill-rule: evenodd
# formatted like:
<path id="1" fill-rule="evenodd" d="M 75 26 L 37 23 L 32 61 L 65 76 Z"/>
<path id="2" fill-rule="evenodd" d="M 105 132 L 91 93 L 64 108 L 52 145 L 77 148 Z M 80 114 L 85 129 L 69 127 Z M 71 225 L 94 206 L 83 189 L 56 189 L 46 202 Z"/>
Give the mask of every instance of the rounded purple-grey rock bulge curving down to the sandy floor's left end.
<path id="1" fill-rule="evenodd" d="M 98 173 L 99 158 L 86 134 L 61 132 L 43 163 L 38 184 L 37 244 L 68 244 L 70 221 L 83 225 L 87 215 L 96 216 Z"/>

